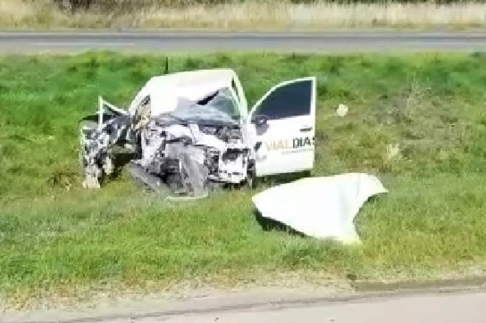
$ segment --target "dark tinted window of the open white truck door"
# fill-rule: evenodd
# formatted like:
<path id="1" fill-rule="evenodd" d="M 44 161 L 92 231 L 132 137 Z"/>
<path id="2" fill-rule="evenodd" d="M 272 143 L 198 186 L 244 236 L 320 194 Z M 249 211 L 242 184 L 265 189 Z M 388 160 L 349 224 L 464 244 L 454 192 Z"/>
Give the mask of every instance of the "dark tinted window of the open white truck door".
<path id="1" fill-rule="evenodd" d="M 255 114 L 265 115 L 269 120 L 308 115 L 311 113 L 312 87 L 311 80 L 282 85 L 261 102 Z"/>

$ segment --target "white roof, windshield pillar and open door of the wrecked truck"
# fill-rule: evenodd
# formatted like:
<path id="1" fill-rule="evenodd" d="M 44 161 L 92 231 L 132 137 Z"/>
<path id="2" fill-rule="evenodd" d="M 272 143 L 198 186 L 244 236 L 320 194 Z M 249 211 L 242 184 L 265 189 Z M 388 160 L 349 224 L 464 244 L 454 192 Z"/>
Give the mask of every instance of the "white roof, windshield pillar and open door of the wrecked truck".
<path id="1" fill-rule="evenodd" d="M 128 114 L 134 115 L 147 96 L 150 114 L 156 116 L 173 111 L 179 98 L 204 102 L 214 93 L 223 92 L 228 99 L 225 104 L 233 104 L 234 111 L 239 111 L 243 137 L 254 156 L 256 177 L 314 167 L 316 77 L 278 83 L 249 108 L 244 88 L 232 69 L 171 73 L 152 77 L 131 102 Z"/>

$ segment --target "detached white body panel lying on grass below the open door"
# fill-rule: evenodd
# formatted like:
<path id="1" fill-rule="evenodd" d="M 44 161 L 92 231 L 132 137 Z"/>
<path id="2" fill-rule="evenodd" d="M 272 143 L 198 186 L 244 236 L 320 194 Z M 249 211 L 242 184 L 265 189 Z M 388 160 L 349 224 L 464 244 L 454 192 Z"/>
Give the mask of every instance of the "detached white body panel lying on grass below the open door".
<path id="1" fill-rule="evenodd" d="M 256 194 L 252 201 L 264 218 L 314 238 L 350 244 L 361 242 L 353 223 L 361 206 L 386 192 L 373 175 L 346 173 L 281 184 Z"/>

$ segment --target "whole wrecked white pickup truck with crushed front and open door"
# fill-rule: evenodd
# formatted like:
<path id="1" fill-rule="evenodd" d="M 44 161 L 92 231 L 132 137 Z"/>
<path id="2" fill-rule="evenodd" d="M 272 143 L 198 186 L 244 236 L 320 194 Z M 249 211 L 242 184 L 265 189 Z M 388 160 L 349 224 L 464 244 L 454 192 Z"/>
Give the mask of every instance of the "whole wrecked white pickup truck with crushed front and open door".
<path id="1" fill-rule="evenodd" d="M 115 146 L 132 150 L 135 178 L 178 196 L 313 168 L 315 77 L 279 83 L 247 104 L 232 69 L 152 77 L 126 110 L 100 97 L 98 113 L 82 120 L 83 185 L 100 187 L 113 172 Z"/>

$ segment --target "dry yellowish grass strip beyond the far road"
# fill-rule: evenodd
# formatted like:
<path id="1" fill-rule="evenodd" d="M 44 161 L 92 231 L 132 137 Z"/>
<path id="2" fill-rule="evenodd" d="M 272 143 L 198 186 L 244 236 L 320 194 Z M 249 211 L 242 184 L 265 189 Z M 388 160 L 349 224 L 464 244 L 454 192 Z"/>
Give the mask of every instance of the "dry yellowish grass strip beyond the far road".
<path id="1" fill-rule="evenodd" d="M 128 11 L 79 12 L 71 15 L 50 0 L 35 5 L 22 0 L 0 1 L 0 28 L 177 28 L 223 30 L 276 30 L 322 28 L 470 28 L 484 27 L 486 5 L 462 2 L 450 5 L 333 4 L 317 1 L 250 0 L 219 5 L 194 4 L 188 8 L 154 4 Z M 148 1 L 145 1 L 148 2 Z M 177 2 L 177 1 L 174 1 Z"/>

